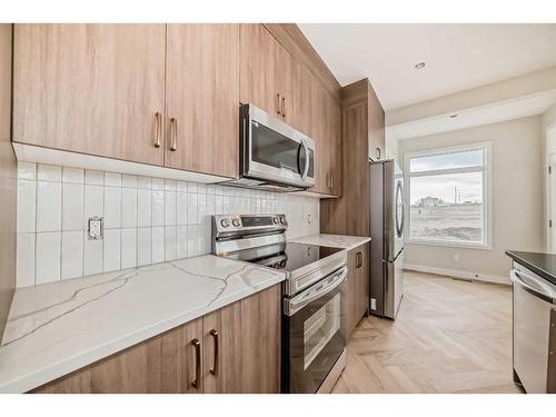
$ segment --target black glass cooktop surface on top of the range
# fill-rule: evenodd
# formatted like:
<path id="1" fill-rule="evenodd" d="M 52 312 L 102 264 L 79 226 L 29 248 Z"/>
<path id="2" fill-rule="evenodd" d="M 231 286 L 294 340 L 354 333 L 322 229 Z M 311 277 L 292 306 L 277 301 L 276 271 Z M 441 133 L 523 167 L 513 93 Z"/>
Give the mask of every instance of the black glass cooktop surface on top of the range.
<path id="1" fill-rule="evenodd" d="M 327 246 L 281 242 L 241 250 L 230 258 L 291 272 L 341 250 Z"/>

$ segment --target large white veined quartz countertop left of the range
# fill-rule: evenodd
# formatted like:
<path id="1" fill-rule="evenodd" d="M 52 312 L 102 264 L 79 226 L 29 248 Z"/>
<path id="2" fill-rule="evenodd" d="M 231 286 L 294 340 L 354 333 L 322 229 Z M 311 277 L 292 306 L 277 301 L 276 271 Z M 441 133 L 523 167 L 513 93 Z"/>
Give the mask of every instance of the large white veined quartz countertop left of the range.
<path id="1" fill-rule="evenodd" d="M 22 393 L 282 281 L 212 255 L 16 290 L 0 393 Z"/>

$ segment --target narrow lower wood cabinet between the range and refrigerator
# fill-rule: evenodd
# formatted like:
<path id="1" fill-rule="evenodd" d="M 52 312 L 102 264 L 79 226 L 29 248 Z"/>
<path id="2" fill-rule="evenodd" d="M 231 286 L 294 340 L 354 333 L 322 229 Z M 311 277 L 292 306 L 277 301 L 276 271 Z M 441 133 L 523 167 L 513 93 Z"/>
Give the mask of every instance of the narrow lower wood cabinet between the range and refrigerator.
<path id="1" fill-rule="evenodd" d="M 368 311 L 369 304 L 369 244 L 348 251 L 347 336 Z"/>

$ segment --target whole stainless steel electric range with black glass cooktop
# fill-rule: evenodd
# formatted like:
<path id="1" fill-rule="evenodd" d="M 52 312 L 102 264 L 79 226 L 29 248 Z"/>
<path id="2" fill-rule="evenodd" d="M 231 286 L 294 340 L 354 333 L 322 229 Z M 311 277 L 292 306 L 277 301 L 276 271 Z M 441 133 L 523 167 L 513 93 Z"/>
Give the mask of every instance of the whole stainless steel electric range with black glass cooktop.
<path id="1" fill-rule="evenodd" d="M 286 241 L 285 215 L 212 217 L 212 252 L 280 269 L 284 393 L 330 391 L 346 364 L 347 255 Z"/>

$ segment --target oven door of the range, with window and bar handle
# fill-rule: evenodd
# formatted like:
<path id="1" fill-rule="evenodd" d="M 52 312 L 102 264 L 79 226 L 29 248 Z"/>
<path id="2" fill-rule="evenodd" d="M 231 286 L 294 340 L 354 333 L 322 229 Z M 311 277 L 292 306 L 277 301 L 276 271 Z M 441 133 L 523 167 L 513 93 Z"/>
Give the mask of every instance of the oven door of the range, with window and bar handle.
<path id="1" fill-rule="evenodd" d="M 317 393 L 346 348 L 347 274 L 342 267 L 285 299 L 282 391 Z"/>

